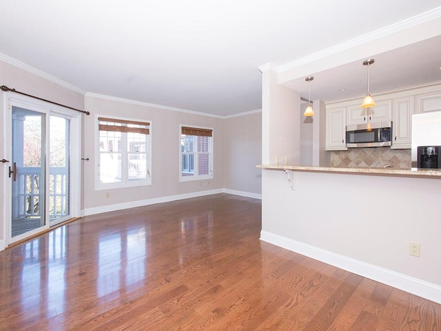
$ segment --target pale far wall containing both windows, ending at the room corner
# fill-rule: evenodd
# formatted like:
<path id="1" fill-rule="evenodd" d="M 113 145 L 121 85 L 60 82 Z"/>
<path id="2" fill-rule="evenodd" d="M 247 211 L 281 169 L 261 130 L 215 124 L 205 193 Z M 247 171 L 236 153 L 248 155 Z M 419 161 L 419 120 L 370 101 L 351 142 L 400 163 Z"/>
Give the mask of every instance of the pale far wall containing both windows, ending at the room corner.
<path id="1" fill-rule="evenodd" d="M 84 172 L 84 210 L 85 214 L 112 209 L 114 206 L 128 208 L 142 205 L 149 199 L 172 197 L 180 194 L 222 190 L 224 185 L 224 119 L 187 114 L 143 106 L 100 97 L 85 97 L 85 107 L 92 115 L 85 119 L 84 156 L 90 161 L 85 164 Z M 96 115 L 119 116 L 130 119 L 150 121 L 152 134 L 152 185 L 134 188 L 115 188 L 95 190 L 95 132 Z M 201 181 L 179 181 L 179 125 L 202 126 L 214 130 L 214 178 Z M 105 193 L 109 197 L 105 197 Z M 99 209 L 96 209 L 99 208 Z"/>

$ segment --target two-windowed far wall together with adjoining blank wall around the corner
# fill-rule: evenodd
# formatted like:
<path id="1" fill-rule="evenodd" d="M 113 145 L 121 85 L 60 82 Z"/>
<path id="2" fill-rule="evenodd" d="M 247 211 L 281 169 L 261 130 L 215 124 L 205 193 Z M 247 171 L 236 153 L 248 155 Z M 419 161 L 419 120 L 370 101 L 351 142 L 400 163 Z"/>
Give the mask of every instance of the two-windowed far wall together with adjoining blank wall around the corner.
<path id="1" fill-rule="evenodd" d="M 232 192 L 260 198 L 261 114 L 245 114 L 228 119 L 201 116 L 144 106 L 142 103 L 115 101 L 105 97 L 85 97 L 92 115 L 85 119 L 83 155 L 83 210 L 85 214 L 130 208 L 147 203 L 181 199 L 213 192 Z M 95 190 L 95 117 L 121 116 L 151 122 L 152 185 L 134 188 Z M 179 125 L 214 129 L 214 179 L 179 181 Z M 239 130 L 241 129 L 241 130 Z M 106 193 L 109 197 L 106 197 Z"/>

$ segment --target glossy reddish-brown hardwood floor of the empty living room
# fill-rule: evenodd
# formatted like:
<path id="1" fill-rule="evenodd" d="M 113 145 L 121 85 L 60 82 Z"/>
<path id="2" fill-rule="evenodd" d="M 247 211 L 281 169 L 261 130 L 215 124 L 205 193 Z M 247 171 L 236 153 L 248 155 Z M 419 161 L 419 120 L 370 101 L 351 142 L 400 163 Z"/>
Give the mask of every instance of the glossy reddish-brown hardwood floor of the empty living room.
<path id="1" fill-rule="evenodd" d="M 84 217 L 0 252 L 0 330 L 441 330 L 441 305 L 259 240 L 229 194 Z"/>

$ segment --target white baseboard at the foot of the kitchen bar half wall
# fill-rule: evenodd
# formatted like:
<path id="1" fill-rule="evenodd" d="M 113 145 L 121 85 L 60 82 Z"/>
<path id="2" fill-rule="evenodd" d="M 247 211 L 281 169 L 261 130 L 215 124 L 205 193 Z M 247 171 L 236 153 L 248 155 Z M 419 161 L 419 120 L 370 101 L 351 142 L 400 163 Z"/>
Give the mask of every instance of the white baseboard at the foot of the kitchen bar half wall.
<path id="1" fill-rule="evenodd" d="M 400 274 L 399 272 L 380 268 L 377 265 L 351 259 L 350 257 L 336 254 L 329 250 L 323 250 L 322 248 L 301 243 L 300 241 L 295 241 L 264 230 L 260 232 L 260 240 L 305 255 L 311 259 L 334 265 L 337 268 L 353 272 L 354 274 L 359 274 L 362 277 L 373 279 L 374 281 L 384 283 L 393 288 L 416 294 L 418 297 L 441 303 L 440 285 L 435 285 L 427 281 L 422 281 L 421 279 L 407 276 L 406 274 Z"/>

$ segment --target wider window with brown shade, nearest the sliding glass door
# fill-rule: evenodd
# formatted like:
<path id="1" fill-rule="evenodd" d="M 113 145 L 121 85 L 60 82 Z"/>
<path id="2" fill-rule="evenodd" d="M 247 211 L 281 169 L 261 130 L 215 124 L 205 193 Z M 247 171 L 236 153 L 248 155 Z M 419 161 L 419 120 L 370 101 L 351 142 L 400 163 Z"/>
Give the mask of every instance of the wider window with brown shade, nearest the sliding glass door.
<path id="1" fill-rule="evenodd" d="M 150 123 L 98 118 L 97 188 L 150 184 Z"/>

